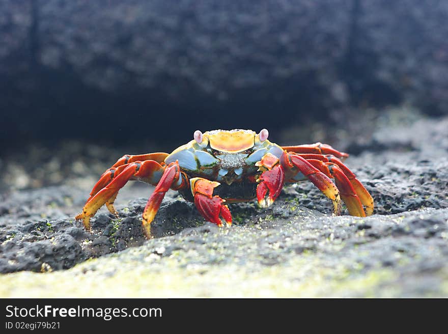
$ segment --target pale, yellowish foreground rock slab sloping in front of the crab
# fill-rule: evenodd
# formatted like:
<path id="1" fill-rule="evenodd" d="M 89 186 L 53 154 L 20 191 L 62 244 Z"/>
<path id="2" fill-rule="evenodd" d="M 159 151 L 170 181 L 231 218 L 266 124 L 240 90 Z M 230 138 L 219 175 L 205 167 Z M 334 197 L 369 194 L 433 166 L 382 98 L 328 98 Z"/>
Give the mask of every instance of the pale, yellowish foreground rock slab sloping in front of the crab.
<path id="1" fill-rule="evenodd" d="M 231 229 L 210 223 L 69 270 L 0 276 L 21 297 L 447 296 L 448 210 L 353 219 L 281 205 Z"/>

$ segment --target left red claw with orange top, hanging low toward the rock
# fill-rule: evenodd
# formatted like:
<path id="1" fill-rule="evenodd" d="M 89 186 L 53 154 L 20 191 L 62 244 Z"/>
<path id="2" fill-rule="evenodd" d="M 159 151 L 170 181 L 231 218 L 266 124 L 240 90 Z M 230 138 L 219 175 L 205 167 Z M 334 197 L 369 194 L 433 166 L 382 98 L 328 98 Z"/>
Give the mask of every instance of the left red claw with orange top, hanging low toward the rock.
<path id="1" fill-rule="evenodd" d="M 232 215 L 225 203 L 219 196 L 213 196 L 213 188 L 220 185 L 219 182 L 209 181 L 203 178 L 190 179 L 191 193 L 194 196 L 194 204 L 201 215 L 217 226 L 222 226 L 220 215 L 226 221 L 227 226 L 232 225 Z"/>

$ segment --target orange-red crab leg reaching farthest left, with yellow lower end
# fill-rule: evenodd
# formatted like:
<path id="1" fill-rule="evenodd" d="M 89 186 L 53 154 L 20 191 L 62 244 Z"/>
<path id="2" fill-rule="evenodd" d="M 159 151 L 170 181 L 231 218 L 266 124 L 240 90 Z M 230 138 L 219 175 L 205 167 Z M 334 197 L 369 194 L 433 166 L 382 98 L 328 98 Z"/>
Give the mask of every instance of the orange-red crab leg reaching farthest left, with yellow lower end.
<path id="1" fill-rule="evenodd" d="M 97 191 L 94 196 L 91 196 L 89 200 L 87 200 L 86 205 L 82 208 L 82 212 L 78 214 L 75 219 L 82 219 L 84 227 L 89 231 L 90 218 L 93 217 L 98 209 L 101 208 L 105 203 L 108 203 L 109 206 L 113 205 L 118 191 L 131 178 L 135 177 L 137 179 L 145 180 L 151 178 L 153 173 L 157 170 L 162 171 L 163 167 L 153 160 L 147 160 L 143 162 L 136 161 L 120 166 L 114 171 L 112 180 L 102 189 Z M 110 178 L 110 176 L 108 177 Z M 101 177 L 101 179 L 102 178 L 103 177 Z"/>

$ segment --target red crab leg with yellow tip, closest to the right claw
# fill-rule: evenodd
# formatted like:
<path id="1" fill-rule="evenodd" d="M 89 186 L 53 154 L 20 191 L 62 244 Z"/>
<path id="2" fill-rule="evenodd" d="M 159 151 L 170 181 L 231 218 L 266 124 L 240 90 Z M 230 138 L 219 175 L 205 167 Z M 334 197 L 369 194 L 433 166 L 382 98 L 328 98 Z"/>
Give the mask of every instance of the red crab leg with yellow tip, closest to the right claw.
<path id="1" fill-rule="evenodd" d="M 322 191 L 326 197 L 333 202 L 333 214 L 341 214 L 341 197 L 338 188 L 321 171 L 319 171 L 310 162 L 295 153 L 283 152 L 280 162 L 285 170 L 290 174 L 294 168 L 297 168 L 306 178 Z"/>

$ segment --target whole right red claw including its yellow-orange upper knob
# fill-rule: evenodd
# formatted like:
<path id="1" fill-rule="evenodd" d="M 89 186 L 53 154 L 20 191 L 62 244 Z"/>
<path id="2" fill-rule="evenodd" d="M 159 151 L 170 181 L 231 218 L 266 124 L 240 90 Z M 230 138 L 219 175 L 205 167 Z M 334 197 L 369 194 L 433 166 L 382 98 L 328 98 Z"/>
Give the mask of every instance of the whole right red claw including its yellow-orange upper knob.
<path id="1" fill-rule="evenodd" d="M 270 153 L 264 155 L 255 165 L 260 166 L 260 170 L 265 170 L 259 178 L 257 199 L 260 207 L 267 208 L 277 199 L 282 191 L 285 182 L 285 172 L 283 167 L 278 164 L 278 158 Z M 268 196 L 266 197 L 266 195 Z"/>

